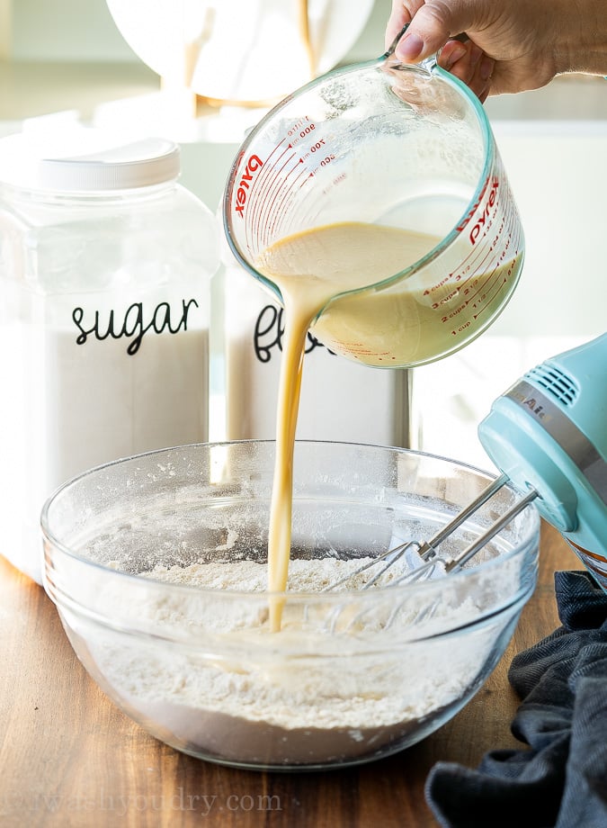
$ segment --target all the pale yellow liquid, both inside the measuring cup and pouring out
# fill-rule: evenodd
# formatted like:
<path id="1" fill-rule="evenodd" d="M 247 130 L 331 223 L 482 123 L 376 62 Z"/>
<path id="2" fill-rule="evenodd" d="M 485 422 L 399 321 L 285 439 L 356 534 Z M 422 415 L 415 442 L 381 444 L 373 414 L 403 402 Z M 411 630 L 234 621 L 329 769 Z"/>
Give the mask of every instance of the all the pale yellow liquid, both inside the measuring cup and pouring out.
<path id="1" fill-rule="evenodd" d="M 293 451 L 308 329 L 337 353 L 367 365 L 407 365 L 441 356 L 460 330 L 491 316 L 521 257 L 486 274 L 437 283 L 402 279 L 379 292 L 340 293 L 378 284 L 429 253 L 441 239 L 374 224 L 342 223 L 281 238 L 255 261 L 276 284 L 285 310 L 277 408 L 276 461 L 268 539 L 268 588 L 284 592 L 290 559 Z M 327 307 L 326 307 L 327 306 Z M 323 310 L 325 309 L 325 310 Z M 270 625 L 281 628 L 284 598 L 272 596 Z"/>

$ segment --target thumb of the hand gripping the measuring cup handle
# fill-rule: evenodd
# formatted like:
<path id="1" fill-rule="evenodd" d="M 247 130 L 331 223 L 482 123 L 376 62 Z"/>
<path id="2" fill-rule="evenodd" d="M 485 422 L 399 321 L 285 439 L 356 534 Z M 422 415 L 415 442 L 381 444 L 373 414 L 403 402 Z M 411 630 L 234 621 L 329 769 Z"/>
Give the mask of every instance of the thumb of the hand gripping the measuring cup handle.
<path id="1" fill-rule="evenodd" d="M 464 6 L 464 9 L 461 6 Z M 403 37 L 398 41 L 395 55 L 407 63 L 433 55 L 451 37 L 466 31 L 473 22 L 465 13 L 466 4 L 426 0 L 416 12 Z"/>

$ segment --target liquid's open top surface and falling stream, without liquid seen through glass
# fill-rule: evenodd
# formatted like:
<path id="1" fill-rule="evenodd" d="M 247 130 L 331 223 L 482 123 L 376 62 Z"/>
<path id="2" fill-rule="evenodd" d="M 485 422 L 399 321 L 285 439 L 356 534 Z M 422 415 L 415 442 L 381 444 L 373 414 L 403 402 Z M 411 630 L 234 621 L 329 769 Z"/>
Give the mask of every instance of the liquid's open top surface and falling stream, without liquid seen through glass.
<path id="1" fill-rule="evenodd" d="M 263 251 L 257 269 L 282 295 L 285 332 L 277 408 L 276 460 L 268 540 L 268 589 L 286 590 L 290 558 L 293 450 L 308 329 L 336 294 L 395 275 L 438 239 L 367 224 L 335 224 L 281 238 Z M 377 320 L 379 326 L 381 320 Z M 273 597 L 270 624 L 281 627 L 284 599 Z"/>

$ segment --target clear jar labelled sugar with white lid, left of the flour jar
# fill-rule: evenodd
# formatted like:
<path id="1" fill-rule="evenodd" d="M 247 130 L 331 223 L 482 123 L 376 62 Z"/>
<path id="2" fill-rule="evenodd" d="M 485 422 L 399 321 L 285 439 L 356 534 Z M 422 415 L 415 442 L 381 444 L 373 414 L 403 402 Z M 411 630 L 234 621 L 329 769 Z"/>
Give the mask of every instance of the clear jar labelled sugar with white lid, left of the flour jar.
<path id="1" fill-rule="evenodd" d="M 208 438 L 218 234 L 179 172 L 165 139 L 0 141 L 0 553 L 36 581 L 61 482 Z"/>

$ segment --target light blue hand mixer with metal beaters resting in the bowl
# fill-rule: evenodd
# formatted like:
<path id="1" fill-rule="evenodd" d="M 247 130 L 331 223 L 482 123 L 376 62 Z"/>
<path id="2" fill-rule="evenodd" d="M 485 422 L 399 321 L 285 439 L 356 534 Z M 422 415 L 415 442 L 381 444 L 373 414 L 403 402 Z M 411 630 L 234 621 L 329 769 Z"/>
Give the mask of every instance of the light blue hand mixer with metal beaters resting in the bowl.
<path id="1" fill-rule="evenodd" d="M 500 476 L 429 540 L 392 548 L 328 590 L 375 567 L 367 589 L 403 556 L 407 572 L 392 583 L 454 572 L 534 501 L 607 592 L 607 333 L 524 374 L 495 400 L 478 437 Z M 507 483 L 521 499 L 473 544 L 442 556 L 442 542 Z"/>

